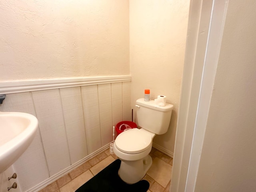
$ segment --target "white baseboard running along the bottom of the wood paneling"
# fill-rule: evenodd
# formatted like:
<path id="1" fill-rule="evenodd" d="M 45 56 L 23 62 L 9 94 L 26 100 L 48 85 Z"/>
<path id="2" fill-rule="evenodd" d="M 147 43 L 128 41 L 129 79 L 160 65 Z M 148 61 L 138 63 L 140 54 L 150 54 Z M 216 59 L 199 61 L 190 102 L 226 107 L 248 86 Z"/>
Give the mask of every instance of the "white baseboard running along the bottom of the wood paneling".
<path id="1" fill-rule="evenodd" d="M 109 143 L 110 144 L 110 143 Z M 69 166 L 68 168 L 62 170 L 61 172 L 58 172 L 57 174 L 49 177 L 48 179 L 44 180 L 43 182 L 41 182 L 40 184 L 30 188 L 29 190 L 27 190 L 26 192 L 36 192 L 36 191 L 40 191 L 41 189 L 45 188 L 46 186 L 48 186 L 49 184 L 53 183 L 54 181 L 58 180 L 59 178 L 61 178 L 62 176 L 68 174 L 69 172 L 71 172 L 72 170 L 74 170 L 75 168 L 78 168 L 79 166 L 81 166 L 82 164 L 84 164 L 86 161 L 94 158 L 95 156 L 97 156 L 98 154 L 100 154 L 101 152 L 105 151 L 107 148 L 109 148 L 109 144 L 107 144 L 106 146 L 100 148 L 99 150 L 93 152 L 92 154 L 86 156 L 85 158 L 81 159 L 80 161 L 76 162 L 75 164 Z"/>

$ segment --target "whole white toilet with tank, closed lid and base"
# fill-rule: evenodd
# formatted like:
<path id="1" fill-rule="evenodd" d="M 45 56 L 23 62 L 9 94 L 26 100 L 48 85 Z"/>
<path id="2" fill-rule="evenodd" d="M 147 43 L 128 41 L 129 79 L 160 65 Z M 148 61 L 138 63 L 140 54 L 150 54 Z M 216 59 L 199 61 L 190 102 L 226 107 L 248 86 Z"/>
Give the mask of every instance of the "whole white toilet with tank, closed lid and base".
<path id="1" fill-rule="evenodd" d="M 156 134 L 167 132 L 172 115 L 173 105 L 157 106 L 154 100 L 136 100 L 138 126 L 126 130 L 116 137 L 114 153 L 121 160 L 118 170 L 120 178 L 134 184 L 140 181 L 152 165 L 149 153 Z"/>

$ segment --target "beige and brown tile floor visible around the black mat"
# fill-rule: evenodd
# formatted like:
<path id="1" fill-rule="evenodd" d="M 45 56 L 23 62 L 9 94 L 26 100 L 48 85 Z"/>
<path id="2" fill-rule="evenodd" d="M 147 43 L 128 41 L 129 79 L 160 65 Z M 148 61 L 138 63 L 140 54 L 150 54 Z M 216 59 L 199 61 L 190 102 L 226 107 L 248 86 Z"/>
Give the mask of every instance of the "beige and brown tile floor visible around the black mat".
<path id="1" fill-rule="evenodd" d="M 152 157 L 153 163 L 146 176 L 143 178 L 150 183 L 148 192 L 169 192 L 172 158 L 154 148 L 152 148 L 150 156 Z M 109 149 L 107 149 L 48 185 L 46 188 L 40 190 L 40 192 L 74 192 L 116 159 L 117 156 L 110 154 Z"/>

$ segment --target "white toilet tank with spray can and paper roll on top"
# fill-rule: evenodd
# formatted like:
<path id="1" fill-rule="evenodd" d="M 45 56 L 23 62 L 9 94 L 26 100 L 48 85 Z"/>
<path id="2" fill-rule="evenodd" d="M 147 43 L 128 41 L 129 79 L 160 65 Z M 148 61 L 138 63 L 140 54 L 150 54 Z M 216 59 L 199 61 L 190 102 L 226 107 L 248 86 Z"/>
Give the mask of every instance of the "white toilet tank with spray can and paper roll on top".
<path id="1" fill-rule="evenodd" d="M 161 135 L 167 132 L 172 116 L 173 105 L 157 106 L 154 100 L 136 100 L 138 125 L 145 130 Z"/>

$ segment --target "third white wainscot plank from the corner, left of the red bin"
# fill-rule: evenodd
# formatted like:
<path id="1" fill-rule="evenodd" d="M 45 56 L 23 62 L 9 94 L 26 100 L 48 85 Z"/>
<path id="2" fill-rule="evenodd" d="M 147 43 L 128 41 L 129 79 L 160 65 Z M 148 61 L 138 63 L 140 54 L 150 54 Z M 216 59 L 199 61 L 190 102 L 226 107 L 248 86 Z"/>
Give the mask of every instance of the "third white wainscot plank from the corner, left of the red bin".
<path id="1" fill-rule="evenodd" d="M 111 84 L 98 85 L 102 146 L 113 140 Z"/>

